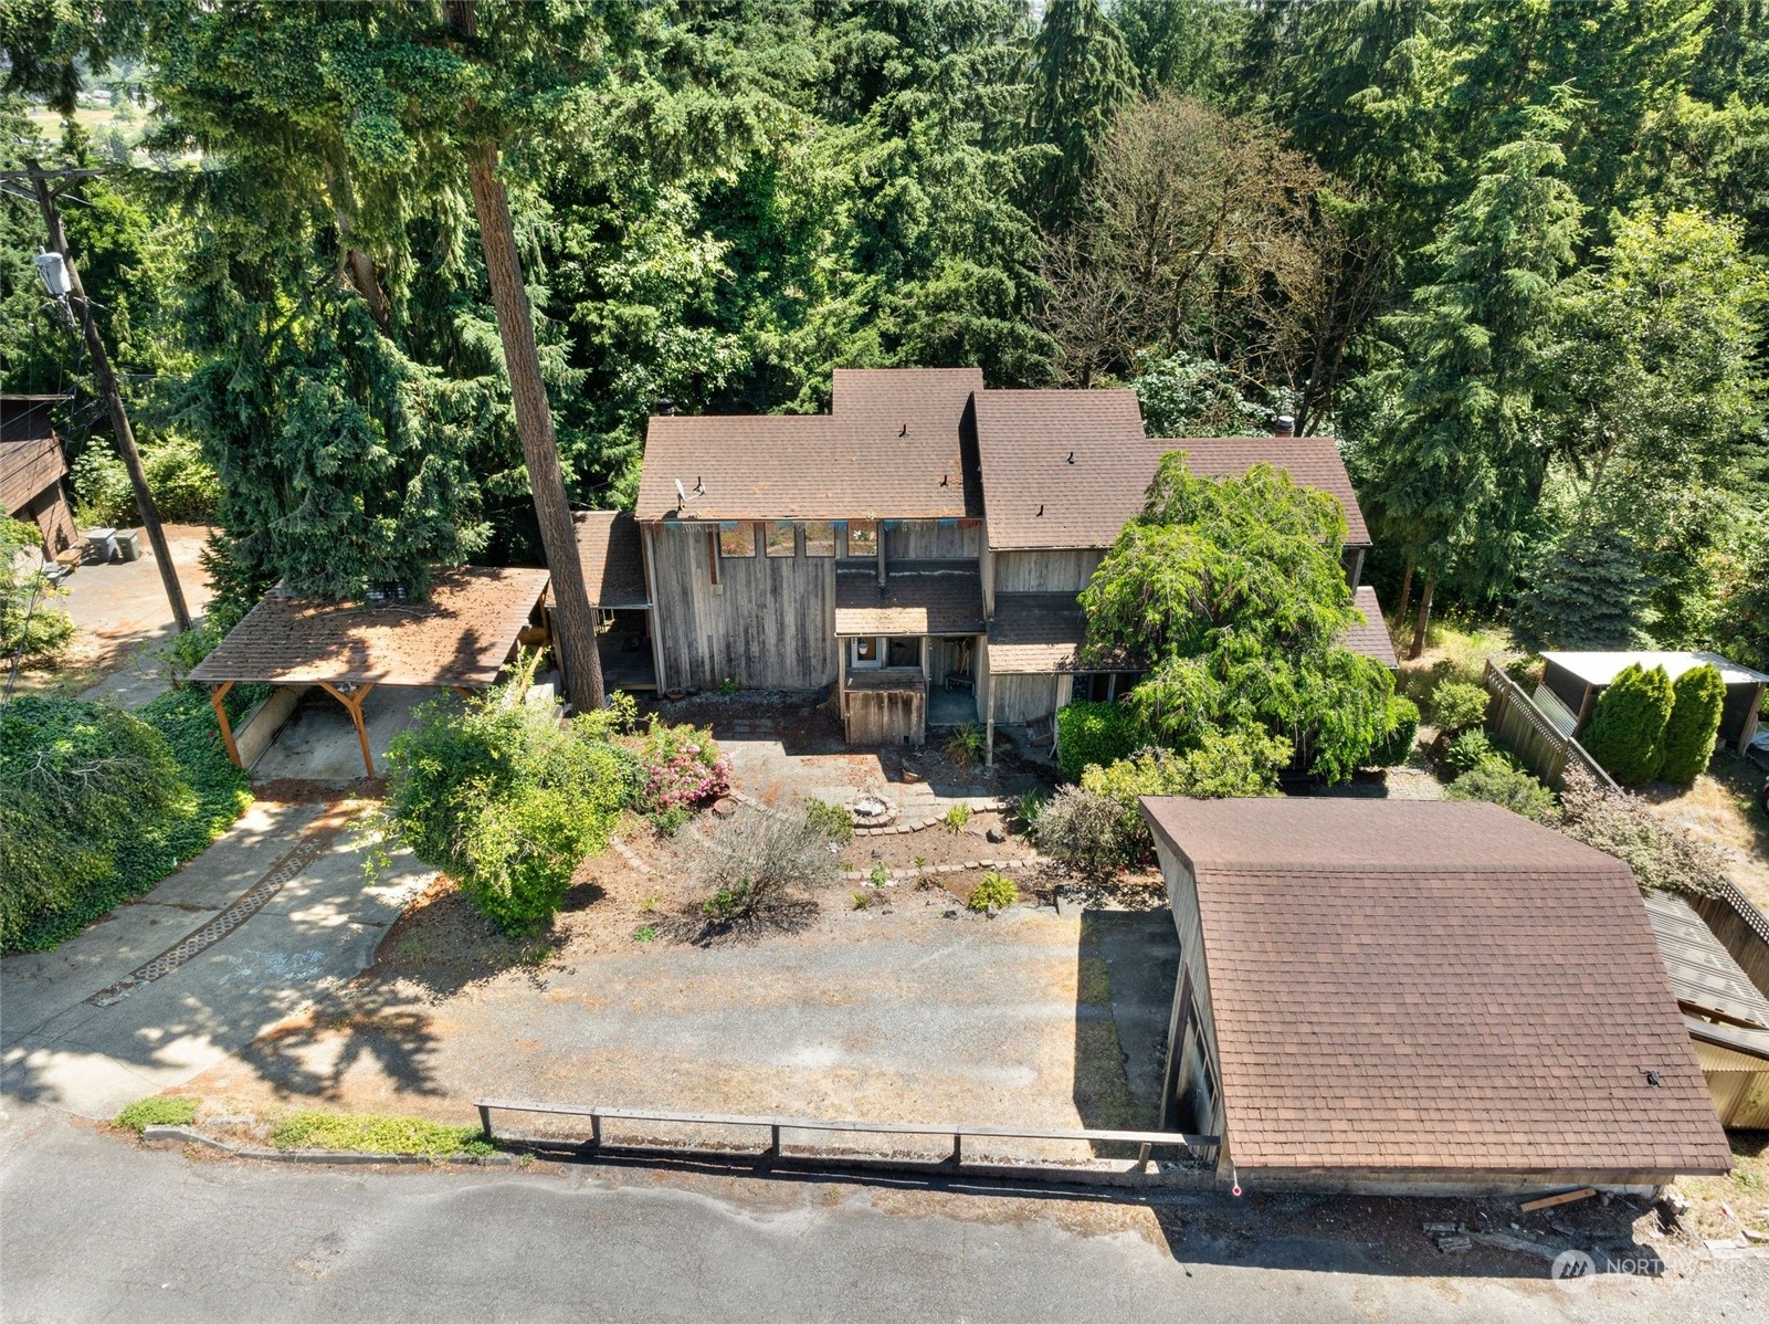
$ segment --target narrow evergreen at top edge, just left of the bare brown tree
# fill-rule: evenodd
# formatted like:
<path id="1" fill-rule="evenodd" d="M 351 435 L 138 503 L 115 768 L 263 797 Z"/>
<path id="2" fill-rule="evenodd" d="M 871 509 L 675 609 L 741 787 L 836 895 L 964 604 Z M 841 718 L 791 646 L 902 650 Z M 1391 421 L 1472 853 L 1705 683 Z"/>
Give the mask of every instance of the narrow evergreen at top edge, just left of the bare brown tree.
<path id="1" fill-rule="evenodd" d="M 1074 219 L 1093 150 L 1118 108 L 1136 96 L 1136 65 L 1100 0 L 1049 0 L 1031 46 L 1031 142 L 1054 149 L 1037 177 L 1035 209 L 1045 228 Z"/>

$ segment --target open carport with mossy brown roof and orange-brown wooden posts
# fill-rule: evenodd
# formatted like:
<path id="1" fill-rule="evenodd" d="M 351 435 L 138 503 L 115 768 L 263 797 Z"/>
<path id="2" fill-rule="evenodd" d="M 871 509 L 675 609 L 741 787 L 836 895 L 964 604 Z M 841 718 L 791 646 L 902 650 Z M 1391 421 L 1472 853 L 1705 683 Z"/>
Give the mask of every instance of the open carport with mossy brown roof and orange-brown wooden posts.
<path id="1" fill-rule="evenodd" d="M 318 685 L 350 713 L 375 775 L 363 701 L 377 685 L 451 689 L 497 683 L 518 644 L 547 641 L 545 570 L 439 570 L 423 602 L 325 602 L 272 589 L 191 671 L 209 687 L 228 758 L 244 766 L 223 699 L 235 685 Z"/>

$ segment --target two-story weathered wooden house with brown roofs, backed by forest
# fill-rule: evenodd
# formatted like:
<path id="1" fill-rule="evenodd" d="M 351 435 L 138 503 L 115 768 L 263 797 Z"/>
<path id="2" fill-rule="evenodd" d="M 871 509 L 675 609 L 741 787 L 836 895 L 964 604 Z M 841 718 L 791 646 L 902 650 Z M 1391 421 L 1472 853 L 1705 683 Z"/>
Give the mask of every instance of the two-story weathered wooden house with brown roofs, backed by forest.
<path id="1" fill-rule="evenodd" d="M 1348 643 L 1394 666 L 1330 439 L 1150 441 L 1132 391 L 989 391 L 973 368 L 839 368 L 828 414 L 653 418 L 632 520 L 580 517 L 580 549 L 658 689 L 828 687 L 853 743 L 920 743 L 1134 683 L 1083 669 L 1076 593 L 1173 450 L 1339 497 L 1367 618 Z"/>

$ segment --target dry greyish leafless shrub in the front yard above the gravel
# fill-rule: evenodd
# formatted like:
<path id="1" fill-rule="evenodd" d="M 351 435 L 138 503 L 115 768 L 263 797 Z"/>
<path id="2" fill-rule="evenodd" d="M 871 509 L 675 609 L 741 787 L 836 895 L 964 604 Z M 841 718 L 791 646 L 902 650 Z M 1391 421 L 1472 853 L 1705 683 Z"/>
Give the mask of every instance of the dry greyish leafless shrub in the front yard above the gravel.
<path id="1" fill-rule="evenodd" d="M 702 897 L 667 931 L 701 945 L 808 928 L 817 915 L 812 890 L 839 871 L 821 823 L 757 811 L 704 832 L 688 867 Z"/>

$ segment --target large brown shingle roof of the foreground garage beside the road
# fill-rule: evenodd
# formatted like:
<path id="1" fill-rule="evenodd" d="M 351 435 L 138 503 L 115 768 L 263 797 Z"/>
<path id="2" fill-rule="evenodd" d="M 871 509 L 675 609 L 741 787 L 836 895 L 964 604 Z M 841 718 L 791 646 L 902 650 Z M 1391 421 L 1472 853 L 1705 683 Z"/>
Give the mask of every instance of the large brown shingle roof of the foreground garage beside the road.
<path id="1" fill-rule="evenodd" d="M 1620 862 L 1486 804 L 1143 812 L 1198 880 L 1242 1170 L 1730 1168 Z"/>

